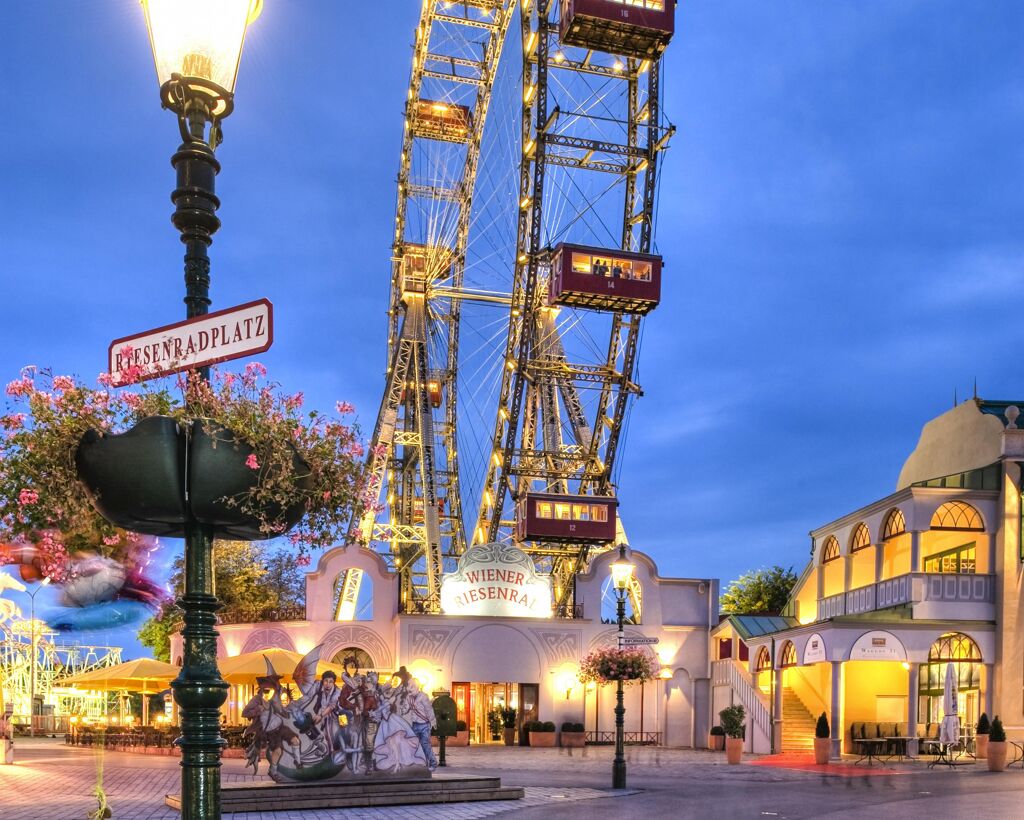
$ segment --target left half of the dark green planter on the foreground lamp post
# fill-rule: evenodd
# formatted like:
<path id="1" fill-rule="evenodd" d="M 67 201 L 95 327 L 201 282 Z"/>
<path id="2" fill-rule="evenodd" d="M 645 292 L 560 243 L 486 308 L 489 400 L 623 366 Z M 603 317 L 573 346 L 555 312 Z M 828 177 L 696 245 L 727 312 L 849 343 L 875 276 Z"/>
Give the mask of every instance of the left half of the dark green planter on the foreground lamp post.
<path id="1" fill-rule="evenodd" d="M 89 430 L 75 454 L 79 480 L 96 511 L 115 526 L 181 537 L 185 436 L 166 416 L 143 419 L 118 435 Z"/>

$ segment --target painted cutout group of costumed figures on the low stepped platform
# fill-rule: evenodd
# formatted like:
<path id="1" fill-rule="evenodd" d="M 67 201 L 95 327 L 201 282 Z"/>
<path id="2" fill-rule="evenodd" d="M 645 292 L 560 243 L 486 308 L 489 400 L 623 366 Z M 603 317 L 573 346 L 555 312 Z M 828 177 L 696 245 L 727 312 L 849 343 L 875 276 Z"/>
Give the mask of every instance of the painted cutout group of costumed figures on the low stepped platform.
<path id="1" fill-rule="evenodd" d="M 266 759 L 274 780 L 424 775 L 436 766 L 430 749 L 433 708 L 404 666 L 382 684 L 364 674 L 354 657 L 339 676 L 316 678 L 321 647 L 299 661 L 292 677 L 301 696 L 292 699 L 267 660 L 266 676 L 243 717 L 251 724 L 248 763 Z"/>

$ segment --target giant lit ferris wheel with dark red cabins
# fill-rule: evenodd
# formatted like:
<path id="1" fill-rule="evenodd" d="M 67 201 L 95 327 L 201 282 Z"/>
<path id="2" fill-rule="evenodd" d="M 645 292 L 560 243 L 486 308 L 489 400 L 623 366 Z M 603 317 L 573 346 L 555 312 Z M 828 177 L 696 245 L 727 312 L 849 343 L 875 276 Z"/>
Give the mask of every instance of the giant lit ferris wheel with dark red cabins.
<path id="1" fill-rule="evenodd" d="M 403 611 L 438 611 L 458 556 L 508 541 L 571 614 L 575 576 L 626 541 L 616 468 L 660 295 L 674 12 L 675 0 L 424 0 L 367 465 L 379 501 L 355 527 L 398 573 Z M 520 60 L 502 61 L 507 41 Z"/>

